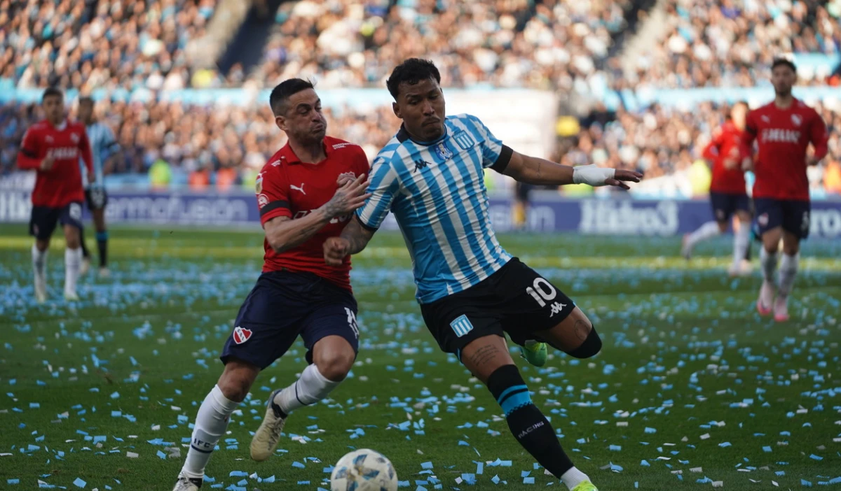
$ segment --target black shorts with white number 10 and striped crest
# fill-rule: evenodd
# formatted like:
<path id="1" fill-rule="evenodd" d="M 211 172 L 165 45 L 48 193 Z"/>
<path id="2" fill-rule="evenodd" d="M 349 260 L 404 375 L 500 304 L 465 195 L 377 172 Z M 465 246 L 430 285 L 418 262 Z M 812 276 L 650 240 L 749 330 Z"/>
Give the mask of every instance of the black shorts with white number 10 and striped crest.
<path id="1" fill-rule="evenodd" d="M 558 325 L 574 308 L 573 300 L 514 258 L 467 290 L 421 304 L 421 314 L 438 346 L 460 356 L 469 342 L 491 334 L 507 333 L 520 345 L 540 340 L 534 332 Z"/>

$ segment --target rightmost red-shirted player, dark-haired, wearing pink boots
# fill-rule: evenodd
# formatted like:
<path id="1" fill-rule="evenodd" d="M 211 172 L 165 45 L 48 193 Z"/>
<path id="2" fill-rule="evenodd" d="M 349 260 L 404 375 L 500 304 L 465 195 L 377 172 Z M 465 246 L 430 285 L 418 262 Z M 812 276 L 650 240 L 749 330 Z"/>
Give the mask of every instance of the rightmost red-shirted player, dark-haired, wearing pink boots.
<path id="1" fill-rule="evenodd" d="M 787 321 L 788 296 L 797 274 L 800 241 L 809 236 L 809 180 L 806 169 L 827 154 L 827 126 L 817 112 L 791 95 L 797 70 L 789 60 L 771 65 L 774 102 L 748 113 L 744 143 L 752 149 L 759 144 L 759 155 L 744 160 L 753 169 L 756 225 L 762 238 L 760 260 L 764 281 L 756 309 L 765 316 L 774 311 L 776 321 Z M 807 156 L 809 144 L 814 154 Z M 780 237 L 783 258 L 779 290 L 775 284 Z M 776 298 L 775 298 L 776 297 Z"/>

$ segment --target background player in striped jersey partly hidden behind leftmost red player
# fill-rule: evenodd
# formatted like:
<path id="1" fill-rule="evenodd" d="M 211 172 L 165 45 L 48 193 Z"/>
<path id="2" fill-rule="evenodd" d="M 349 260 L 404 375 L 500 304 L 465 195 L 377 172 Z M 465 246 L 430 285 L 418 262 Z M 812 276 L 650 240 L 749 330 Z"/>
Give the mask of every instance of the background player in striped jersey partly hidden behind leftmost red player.
<path id="1" fill-rule="evenodd" d="M 91 142 L 93 154 L 93 174 L 96 184 L 85 187 L 85 201 L 93 214 L 93 226 L 97 229 L 97 248 L 99 251 L 99 276 L 107 278 L 108 271 L 108 230 L 105 228 L 105 206 L 108 204 L 108 194 L 105 192 L 104 167 L 108 159 L 114 157 L 119 150 L 119 144 L 114 138 L 114 132 L 108 125 L 97 121 L 93 117 L 93 99 L 82 97 L 79 99 L 79 120 L 87 128 L 87 139 Z M 82 172 L 86 173 L 84 166 Z M 82 241 L 82 269 L 80 274 L 87 273 L 91 266 L 91 253 L 85 245 L 84 231 L 80 232 Z"/>

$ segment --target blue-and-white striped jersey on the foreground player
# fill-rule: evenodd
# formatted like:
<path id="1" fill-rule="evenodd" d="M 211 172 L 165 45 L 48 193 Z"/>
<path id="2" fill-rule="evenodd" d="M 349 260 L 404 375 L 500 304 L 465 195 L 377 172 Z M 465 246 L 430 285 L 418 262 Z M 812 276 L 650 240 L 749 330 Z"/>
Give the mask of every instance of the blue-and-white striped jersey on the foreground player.
<path id="1" fill-rule="evenodd" d="M 401 128 L 374 159 L 372 196 L 357 210 L 370 228 L 394 212 L 422 304 L 467 290 L 511 259 L 490 226 L 484 169 L 504 168 L 512 151 L 479 118 L 450 116 L 444 125 L 430 143 Z"/>

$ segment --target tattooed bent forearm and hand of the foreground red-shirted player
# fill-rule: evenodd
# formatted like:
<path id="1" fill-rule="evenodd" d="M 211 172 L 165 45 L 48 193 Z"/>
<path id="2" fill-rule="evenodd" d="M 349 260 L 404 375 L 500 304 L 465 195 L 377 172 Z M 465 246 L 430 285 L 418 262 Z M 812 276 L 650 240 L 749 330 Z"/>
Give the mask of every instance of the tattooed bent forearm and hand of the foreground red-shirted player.
<path id="1" fill-rule="evenodd" d="M 298 247 L 333 218 L 345 217 L 362 206 L 371 196 L 365 192 L 367 186 L 365 175 L 360 175 L 356 180 L 346 181 L 330 201 L 305 217 L 295 220 L 289 217 L 272 218 L 263 226 L 268 244 L 276 253 Z"/>

